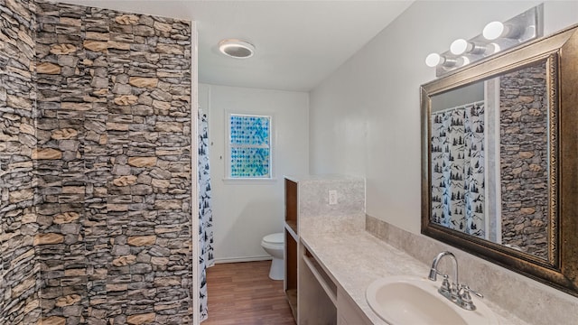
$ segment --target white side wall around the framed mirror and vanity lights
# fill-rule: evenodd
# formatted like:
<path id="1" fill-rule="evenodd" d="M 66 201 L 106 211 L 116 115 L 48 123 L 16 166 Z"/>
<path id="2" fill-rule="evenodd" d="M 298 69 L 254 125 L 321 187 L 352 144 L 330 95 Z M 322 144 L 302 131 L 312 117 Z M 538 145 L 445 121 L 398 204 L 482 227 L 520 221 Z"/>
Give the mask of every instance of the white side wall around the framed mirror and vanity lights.
<path id="1" fill-rule="evenodd" d="M 419 86 L 425 56 L 541 2 L 417 1 L 311 93 L 311 172 L 367 178 L 367 213 L 420 232 Z M 578 2 L 545 2 L 545 35 L 578 23 Z"/>

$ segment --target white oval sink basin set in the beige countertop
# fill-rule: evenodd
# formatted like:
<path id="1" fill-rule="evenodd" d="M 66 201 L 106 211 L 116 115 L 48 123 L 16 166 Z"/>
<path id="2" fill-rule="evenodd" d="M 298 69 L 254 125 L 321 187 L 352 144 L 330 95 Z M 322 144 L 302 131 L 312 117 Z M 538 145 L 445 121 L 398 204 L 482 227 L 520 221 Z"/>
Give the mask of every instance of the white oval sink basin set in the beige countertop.
<path id="1" fill-rule="evenodd" d="M 388 276 L 369 284 L 369 307 L 393 325 L 497 325 L 496 315 L 477 297 L 475 311 L 466 311 L 439 292 L 441 282 L 417 276 Z M 473 296 L 473 294 L 472 294 Z"/>

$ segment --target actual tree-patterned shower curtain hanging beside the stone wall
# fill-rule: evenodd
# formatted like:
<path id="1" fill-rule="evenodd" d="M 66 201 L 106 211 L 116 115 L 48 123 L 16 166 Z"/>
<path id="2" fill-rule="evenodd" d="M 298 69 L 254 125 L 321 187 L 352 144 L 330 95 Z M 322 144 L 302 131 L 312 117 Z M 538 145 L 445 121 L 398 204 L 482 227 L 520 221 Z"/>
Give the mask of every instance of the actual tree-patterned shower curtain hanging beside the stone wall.
<path id="1" fill-rule="evenodd" d="M 200 321 L 206 320 L 207 311 L 207 267 L 214 265 L 213 216 L 210 207 L 209 169 L 209 123 L 207 116 L 199 110 L 199 283 Z"/>

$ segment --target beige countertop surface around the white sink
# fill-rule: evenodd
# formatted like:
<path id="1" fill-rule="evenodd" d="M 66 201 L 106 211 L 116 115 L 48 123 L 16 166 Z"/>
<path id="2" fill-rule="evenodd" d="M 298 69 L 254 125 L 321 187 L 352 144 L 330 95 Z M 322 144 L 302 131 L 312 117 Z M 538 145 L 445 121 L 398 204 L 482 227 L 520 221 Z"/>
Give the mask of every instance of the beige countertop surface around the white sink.
<path id="1" fill-rule="evenodd" d="M 316 227 L 300 227 L 299 235 L 303 244 L 309 247 L 318 262 L 350 295 L 369 320 L 375 324 L 387 324 L 371 310 L 366 301 L 365 290 L 368 285 L 389 275 L 415 275 L 425 278 L 430 265 L 424 265 L 359 227 L 338 227 L 334 220 L 326 223 L 322 217 L 315 218 Z M 324 228 L 323 224 L 332 227 Z M 432 256 L 432 260 L 433 257 L 435 256 Z M 440 280 L 438 282 L 441 283 Z M 478 299 L 473 297 L 474 302 Z M 527 325 L 527 322 L 519 320 L 495 303 L 488 300 L 483 302 L 494 311 L 500 324 Z"/>

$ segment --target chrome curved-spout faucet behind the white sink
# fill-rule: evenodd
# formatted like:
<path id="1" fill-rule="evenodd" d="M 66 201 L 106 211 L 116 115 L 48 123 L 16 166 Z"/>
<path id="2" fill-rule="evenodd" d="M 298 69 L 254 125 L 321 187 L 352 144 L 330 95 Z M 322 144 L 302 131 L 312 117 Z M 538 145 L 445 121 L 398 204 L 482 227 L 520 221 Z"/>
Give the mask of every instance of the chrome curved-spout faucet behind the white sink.
<path id="1" fill-rule="evenodd" d="M 452 283 L 448 280 L 447 274 L 442 274 L 437 269 L 438 263 L 443 258 L 443 256 L 450 256 L 452 258 L 452 265 L 453 265 L 453 278 Z M 484 296 L 480 292 L 475 292 L 470 289 L 469 286 L 465 284 L 460 284 L 458 280 L 458 260 L 455 258 L 452 252 L 444 251 L 433 259 L 432 268 L 430 269 L 430 274 L 428 278 L 432 281 L 437 280 L 437 274 L 443 275 L 443 282 L 438 292 L 442 294 L 445 298 L 451 300 L 461 308 L 468 310 L 468 311 L 475 311 L 476 306 L 471 301 L 470 293 L 477 295 L 480 298 Z"/>

